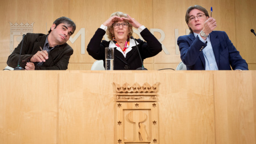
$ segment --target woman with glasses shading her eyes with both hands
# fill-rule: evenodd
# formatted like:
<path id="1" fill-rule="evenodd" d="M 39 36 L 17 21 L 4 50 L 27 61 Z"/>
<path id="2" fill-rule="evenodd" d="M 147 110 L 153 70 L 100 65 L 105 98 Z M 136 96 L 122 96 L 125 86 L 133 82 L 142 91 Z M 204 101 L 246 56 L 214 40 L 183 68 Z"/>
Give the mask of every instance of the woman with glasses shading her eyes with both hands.
<path id="1" fill-rule="evenodd" d="M 131 36 L 132 28 L 138 28 L 140 35 L 145 39 L 135 39 Z M 111 41 L 101 41 L 105 33 Z M 142 26 L 138 21 L 128 14 L 115 12 L 110 15 L 100 28 L 97 29 L 87 46 L 87 52 L 97 60 L 104 61 L 105 67 L 105 47 L 115 47 L 114 49 L 114 69 L 115 70 L 135 70 L 142 67 L 141 59 L 153 57 L 162 51 L 162 45 L 150 31 Z M 141 55 L 141 59 L 139 57 Z"/>

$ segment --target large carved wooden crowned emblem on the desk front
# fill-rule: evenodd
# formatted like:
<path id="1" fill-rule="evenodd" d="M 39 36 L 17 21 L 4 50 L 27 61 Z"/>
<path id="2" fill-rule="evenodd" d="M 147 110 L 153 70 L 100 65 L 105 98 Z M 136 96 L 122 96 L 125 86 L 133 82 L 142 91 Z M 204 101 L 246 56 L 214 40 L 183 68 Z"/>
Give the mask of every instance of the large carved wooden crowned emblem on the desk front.
<path id="1" fill-rule="evenodd" d="M 122 86 L 114 83 L 116 90 L 116 143 L 158 143 L 159 83 L 152 86 L 138 83 Z"/>

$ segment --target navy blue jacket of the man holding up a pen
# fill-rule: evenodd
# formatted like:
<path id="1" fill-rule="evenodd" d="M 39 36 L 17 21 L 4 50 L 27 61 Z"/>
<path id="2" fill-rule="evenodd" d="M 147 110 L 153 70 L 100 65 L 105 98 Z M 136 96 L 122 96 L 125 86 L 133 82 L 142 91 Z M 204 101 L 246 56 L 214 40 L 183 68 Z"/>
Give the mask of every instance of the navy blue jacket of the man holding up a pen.
<path id="1" fill-rule="evenodd" d="M 231 70 L 230 66 L 233 69 L 248 70 L 246 61 L 231 43 L 225 31 L 212 31 L 210 41 L 219 70 Z M 187 66 L 187 70 L 205 70 L 203 49 L 207 44 L 194 34 L 180 36 L 177 43 L 180 58 Z"/>

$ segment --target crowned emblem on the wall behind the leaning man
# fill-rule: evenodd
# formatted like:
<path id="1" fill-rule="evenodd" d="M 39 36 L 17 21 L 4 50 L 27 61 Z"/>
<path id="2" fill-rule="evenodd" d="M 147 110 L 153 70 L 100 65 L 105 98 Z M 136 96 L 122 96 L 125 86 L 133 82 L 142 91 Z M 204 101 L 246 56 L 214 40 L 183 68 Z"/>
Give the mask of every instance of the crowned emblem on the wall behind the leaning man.
<path id="1" fill-rule="evenodd" d="M 23 34 L 33 33 L 34 22 L 31 24 L 29 23 L 23 24 L 22 22 L 20 24 L 18 24 L 17 22 L 15 22 L 14 24 L 11 22 L 9 23 L 10 23 L 10 53 L 12 53 L 12 51 L 14 50 L 14 43 L 15 42 L 20 43 L 22 40 Z M 15 38 L 16 41 L 14 41 L 14 37 L 16 37 Z"/>

